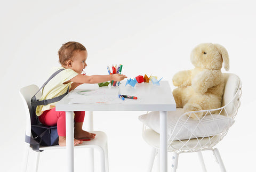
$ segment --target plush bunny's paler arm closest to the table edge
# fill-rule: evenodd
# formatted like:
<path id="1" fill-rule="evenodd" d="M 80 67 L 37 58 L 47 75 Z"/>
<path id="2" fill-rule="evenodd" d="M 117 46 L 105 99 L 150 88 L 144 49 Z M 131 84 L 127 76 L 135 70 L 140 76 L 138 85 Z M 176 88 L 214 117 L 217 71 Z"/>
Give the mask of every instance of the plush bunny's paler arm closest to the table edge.
<path id="1" fill-rule="evenodd" d="M 191 85 L 191 70 L 183 70 L 175 73 L 172 78 L 174 86 L 189 86 Z"/>

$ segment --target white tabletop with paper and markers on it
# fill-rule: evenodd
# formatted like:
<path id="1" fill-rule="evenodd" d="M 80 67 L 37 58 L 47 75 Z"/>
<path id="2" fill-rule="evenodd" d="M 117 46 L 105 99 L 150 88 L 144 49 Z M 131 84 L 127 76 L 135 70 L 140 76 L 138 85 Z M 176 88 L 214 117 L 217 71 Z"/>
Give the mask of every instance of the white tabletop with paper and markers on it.
<path id="1" fill-rule="evenodd" d="M 118 94 L 138 97 L 137 100 L 119 99 Z M 169 111 L 176 105 L 168 81 L 160 85 L 140 83 L 135 87 L 99 87 L 98 84 L 83 84 L 71 91 L 56 104 L 56 111 Z"/>

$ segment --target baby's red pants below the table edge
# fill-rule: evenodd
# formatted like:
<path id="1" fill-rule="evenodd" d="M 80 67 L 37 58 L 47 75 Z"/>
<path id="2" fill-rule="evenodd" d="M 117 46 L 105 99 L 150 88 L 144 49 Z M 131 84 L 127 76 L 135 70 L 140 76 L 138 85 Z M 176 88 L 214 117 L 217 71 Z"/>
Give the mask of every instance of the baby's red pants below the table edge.
<path id="1" fill-rule="evenodd" d="M 84 121 L 84 111 L 76 111 L 75 122 Z M 66 136 L 66 113 L 64 111 L 56 111 L 55 108 L 46 110 L 38 117 L 39 121 L 46 126 L 57 125 L 58 135 Z"/>

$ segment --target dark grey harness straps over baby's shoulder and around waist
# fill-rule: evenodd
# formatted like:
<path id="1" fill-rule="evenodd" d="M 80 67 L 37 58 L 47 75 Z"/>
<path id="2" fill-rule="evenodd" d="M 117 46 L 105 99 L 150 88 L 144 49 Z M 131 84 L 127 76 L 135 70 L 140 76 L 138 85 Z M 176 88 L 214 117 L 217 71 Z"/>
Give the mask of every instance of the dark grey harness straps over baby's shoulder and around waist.
<path id="1" fill-rule="evenodd" d="M 50 76 L 50 78 L 45 81 L 45 83 L 43 84 L 43 86 L 36 92 L 36 94 L 37 94 L 54 76 L 56 76 L 56 75 L 57 75 L 59 72 L 61 72 L 62 70 L 65 70 L 65 69 L 59 69 L 59 70 L 57 70 L 56 72 L 54 72 L 54 73 Z M 36 107 L 36 106 L 38 106 L 38 105 L 47 105 L 47 104 L 50 104 L 50 103 L 58 102 L 58 101 L 60 101 L 63 97 L 65 97 L 65 95 L 67 95 L 68 92 L 69 92 L 69 89 L 67 90 L 66 93 L 64 93 L 64 94 L 62 94 L 62 95 L 60 95 L 60 96 L 58 96 L 58 97 L 54 97 L 53 99 L 47 99 L 47 100 L 42 100 L 42 101 L 33 101 L 33 102 L 31 102 L 31 106 Z M 36 95 L 36 94 L 35 94 L 35 95 Z M 34 96 L 35 96 L 35 95 L 34 95 Z M 34 96 L 33 96 L 33 97 L 34 97 Z"/>

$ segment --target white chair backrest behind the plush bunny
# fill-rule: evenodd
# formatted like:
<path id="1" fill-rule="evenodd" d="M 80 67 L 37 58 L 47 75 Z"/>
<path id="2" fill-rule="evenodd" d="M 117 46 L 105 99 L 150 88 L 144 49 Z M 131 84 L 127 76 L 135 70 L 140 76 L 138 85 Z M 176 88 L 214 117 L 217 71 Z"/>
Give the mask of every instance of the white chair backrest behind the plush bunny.
<path id="1" fill-rule="evenodd" d="M 225 107 L 229 117 L 235 117 L 239 108 L 239 98 L 241 97 L 241 80 L 234 73 L 223 73 L 225 79 L 224 94 L 222 97 L 222 107 Z"/>

